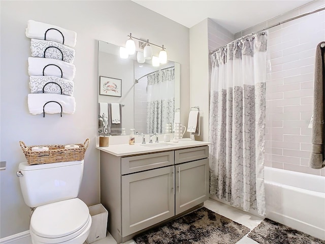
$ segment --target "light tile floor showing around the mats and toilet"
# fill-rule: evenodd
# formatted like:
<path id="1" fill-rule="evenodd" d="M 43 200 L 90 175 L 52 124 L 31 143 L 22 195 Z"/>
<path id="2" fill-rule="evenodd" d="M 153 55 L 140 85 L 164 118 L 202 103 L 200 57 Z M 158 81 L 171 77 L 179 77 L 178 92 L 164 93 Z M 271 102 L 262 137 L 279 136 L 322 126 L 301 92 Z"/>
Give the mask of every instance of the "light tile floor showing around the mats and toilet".
<path id="1" fill-rule="evenodd" d="M 256 217 L 240 209 L 220 203 L 212 199 L 205 201 L 204 206 L 214 212 L 217 212 L 217 214 L 219 215 L 222 215 L 226 218 L 229 218 L 239 224 L 248 227 L 251 230 L 254 229 L 263 220 L 263 218 Z M 106 238 L 92 243 L 93 244 L 116 244 L 116 241 L 113 238 L 113 236 L 108 232 Z M 31 244 L 30 236 L 13 241 L 10 244 Z M 133 240 L 128 240 L 126 242 L 123 242 L 123 244 L 135 244 L 135 242 Z M 245 235 L 236 244 L 258 244 L 258 242 L 248 238 L 247 235 Z"/>

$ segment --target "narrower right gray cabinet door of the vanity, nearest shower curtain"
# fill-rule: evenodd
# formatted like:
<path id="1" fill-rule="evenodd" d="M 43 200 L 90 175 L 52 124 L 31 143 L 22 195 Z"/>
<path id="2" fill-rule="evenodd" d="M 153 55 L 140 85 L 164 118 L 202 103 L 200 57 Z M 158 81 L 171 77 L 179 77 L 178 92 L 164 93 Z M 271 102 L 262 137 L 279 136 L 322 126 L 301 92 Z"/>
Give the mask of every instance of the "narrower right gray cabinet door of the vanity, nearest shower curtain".
<path id="1" fill-rule="evenodd" d="M 209 198 L 209 160 L 201 159 L 175 166 L 176 215 Z"/>

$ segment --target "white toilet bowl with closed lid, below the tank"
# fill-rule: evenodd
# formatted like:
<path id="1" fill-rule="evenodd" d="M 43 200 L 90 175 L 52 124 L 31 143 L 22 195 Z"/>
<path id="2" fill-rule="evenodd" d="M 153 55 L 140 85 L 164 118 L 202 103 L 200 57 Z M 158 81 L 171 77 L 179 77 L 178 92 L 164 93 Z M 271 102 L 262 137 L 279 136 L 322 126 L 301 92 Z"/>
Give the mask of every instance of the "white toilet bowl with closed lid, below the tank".
<path id="1" fill-rule="evenodd" d="M 78 198 L 50 203 L 35 209 L 30 219 L 33 244 L 83 243 L 89 234 L 91 217 Z"/>

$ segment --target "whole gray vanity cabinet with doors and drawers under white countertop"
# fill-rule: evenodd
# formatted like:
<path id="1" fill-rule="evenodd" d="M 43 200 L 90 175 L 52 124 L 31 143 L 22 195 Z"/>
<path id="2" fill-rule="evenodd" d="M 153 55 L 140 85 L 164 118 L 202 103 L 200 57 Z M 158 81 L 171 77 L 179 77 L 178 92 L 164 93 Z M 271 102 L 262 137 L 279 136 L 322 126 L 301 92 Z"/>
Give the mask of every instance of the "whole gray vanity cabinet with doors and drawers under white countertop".
<path id="1" fill-rule="evenodd" d="M 208 146 L 131 156 L 101 151 L 101 203 L 117 243 L 203 205 Z"/>

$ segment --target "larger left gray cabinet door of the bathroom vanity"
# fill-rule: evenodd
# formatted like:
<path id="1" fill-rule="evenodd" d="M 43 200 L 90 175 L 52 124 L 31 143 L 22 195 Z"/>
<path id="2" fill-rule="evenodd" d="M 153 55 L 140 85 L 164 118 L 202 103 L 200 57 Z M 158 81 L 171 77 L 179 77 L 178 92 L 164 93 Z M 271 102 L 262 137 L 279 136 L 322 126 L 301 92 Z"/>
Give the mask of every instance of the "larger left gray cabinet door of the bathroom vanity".
<path id="1" fill-rule="evenodd" d="M 174 166 L 122 176 L 122 236 L 175 215 Z"/>

